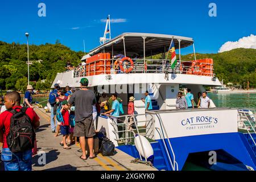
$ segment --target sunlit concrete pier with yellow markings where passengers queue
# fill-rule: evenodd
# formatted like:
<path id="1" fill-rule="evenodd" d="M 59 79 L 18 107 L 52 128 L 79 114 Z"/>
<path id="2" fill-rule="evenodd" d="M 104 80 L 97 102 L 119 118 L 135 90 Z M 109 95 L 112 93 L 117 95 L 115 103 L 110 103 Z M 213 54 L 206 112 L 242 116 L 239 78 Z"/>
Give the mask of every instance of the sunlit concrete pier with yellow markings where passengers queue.
<path id="1" fill-rule="evenodd" d="M 40 128 L 36 131 L 36 140 L 38 141 L 38 155 L 32 160 L 32 169 L 40 170 L 58 170 L 58 171 L 76 171 L 76 170 L 104 170 L 104 171 L 155 171 L 154 167 L 145 164 L 134 164 L 131 160 L 134 158 L 115 149 L 117 154 L 114 156 L 97 155 L 97 158 L 82 160 L 79 158 L 81 152 L 80 146 L 73 144 L 71 150 L 65 150 L 60 146 L 61 136 L 53 137 L 50 127 L 50 114 L 43 109 L 36 108 L 36 113 L 40 117 Z M 43 152 L 43 153 L 42 153 Z M 44 160 L 44 156 L 45 159 Z M 45 162 L 45 163 L 44 163 Z"/>

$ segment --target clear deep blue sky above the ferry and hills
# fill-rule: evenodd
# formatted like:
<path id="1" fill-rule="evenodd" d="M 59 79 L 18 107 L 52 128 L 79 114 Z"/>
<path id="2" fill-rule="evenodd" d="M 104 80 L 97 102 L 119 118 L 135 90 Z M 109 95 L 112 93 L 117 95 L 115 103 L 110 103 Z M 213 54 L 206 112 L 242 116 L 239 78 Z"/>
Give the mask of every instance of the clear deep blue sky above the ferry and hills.
<path id="1" fill-rule="evenodd" d="M 38 4 L 46 4 L 46 17 L 38 16 Z M 217 17 L 208 15 L 208 5 L 217 5 Z M 62 44 L 86 52 L 98 46 L 105 23 L 101 19 L 123 19 L 112 23 L 112 37 L 122 32 L 150 32 L 192 37 L 196 52 L 217 53 L 228 41 L 256 35 L 256 1 L 82 1 L 23 0 L 0 2 L 0 40 Z M 192 52 L 192 47 L 181 53 Z"/>

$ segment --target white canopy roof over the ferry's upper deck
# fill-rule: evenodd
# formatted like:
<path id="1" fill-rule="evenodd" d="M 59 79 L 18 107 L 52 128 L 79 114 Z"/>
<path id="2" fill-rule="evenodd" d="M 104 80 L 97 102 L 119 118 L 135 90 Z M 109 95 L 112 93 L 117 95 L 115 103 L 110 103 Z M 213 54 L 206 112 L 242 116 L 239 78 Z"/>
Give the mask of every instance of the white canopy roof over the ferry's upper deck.
<path id="1" fill-rule="evenodd" d="M 180 48 L 188 47 L 193 44 L 192 38 L 186 38 L 183 36 L 146 33 L 123 33 L 115 37 L 114 39 L 111 39 L 109 42 L 106 42 L 105 44 L 102 44 L 101 46 L 92 49 L 90 51 L 90 55 L 93 56 L 96 53 L 100 53 L 105 49 L 105 52 L 112 53 L 113 51 L 114 55 L 123 53 L 125 50 L 126 53 L 137 53 L 137 55 L 143 56 L 143 37 L 146 38 L 145 56 L 156 55 L 158 53 L 168 51 L 172 39 L 174 39 L 176 49 L 179 48 L 179 40 Z"/>

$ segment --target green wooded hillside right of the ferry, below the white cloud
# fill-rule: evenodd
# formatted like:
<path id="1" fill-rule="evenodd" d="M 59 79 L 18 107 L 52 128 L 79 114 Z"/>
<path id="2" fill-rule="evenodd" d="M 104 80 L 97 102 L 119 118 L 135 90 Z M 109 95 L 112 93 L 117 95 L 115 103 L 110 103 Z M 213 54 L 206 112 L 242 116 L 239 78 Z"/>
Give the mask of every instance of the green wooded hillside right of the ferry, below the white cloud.
<path id="1" fill-rule="evenodd" d="M 196 53 L 196 59 L 212 58 L 214 73 L 224 83 L 243 85 L 250 81 L 250 87 L 256 88 L 256 49 L 233 49 L 222 53 L 200 54 Z M 181 60 L 193 60 L 193 55 L 181 56 Z"/>

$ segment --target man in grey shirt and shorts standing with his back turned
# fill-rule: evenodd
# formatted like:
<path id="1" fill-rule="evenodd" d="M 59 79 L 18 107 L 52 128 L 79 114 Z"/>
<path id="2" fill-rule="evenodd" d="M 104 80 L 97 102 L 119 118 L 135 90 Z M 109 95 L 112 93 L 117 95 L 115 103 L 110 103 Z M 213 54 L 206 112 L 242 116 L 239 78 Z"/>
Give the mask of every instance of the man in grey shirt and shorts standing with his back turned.
<path id="1" fill-rule="evenodd" d="M 89 81 L 87 78 L 81 78 L 80 90 L 77 90 L 69 98 L 68 105 L 71 107 L 75 104 L 75 120 L 74 137 L 79 137 L 79 143 L 82 150 L 80 159 L 86 160 L 85 137 L 88 138 L 89 159 L 96 158 L 93 152 L 93 137 L 96 134 L 93 124 L 93 106 L 96 105 L 96 96 L 87 87 Z"/>

